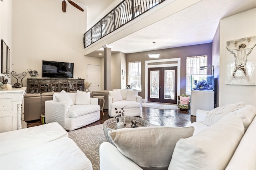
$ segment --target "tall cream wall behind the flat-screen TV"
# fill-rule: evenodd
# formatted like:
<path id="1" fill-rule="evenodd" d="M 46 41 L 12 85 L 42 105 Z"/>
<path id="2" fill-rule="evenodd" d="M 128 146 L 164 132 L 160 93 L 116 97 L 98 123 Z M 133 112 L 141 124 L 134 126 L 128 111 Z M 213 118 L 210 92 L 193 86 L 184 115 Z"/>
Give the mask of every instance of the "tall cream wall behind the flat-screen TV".
<path id="1" fill-rule="evenodd" d="M 13 71 L 22 73 L 36 69 L 40 78 L 42 60 L 64 61 L 74 63 L 74 76 L 86 79 L 83 55 L 86 11 L 81 12 L 67 3 L 66 13 L 63 13 L 59 0 L 15 0 L 12 11 Z M 24 86 L 26 78 L 30 76 L 23 79 Z"/>

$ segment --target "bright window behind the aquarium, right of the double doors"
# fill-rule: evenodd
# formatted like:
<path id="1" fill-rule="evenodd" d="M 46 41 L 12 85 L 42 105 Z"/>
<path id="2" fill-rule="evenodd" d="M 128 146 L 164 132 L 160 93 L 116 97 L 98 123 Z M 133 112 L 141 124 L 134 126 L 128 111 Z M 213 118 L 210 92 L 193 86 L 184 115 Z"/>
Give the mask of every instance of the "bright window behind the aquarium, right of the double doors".
<path id="1" fill-rule="evenodd" d="M 200 70 L 200 66 L 207 65 L 207 55 L 187 57 L 186 60 L 186 92 L 191 92 L 191 75 L 207 75 L 207 69 Z"/>

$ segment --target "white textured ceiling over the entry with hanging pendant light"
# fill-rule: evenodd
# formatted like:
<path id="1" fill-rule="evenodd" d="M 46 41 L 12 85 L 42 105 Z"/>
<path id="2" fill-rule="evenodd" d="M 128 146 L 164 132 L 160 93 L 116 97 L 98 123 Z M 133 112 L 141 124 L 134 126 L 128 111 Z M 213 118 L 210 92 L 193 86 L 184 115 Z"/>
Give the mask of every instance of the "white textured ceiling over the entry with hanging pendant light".
<path id="1" fill-rule="evenodd" d="M 77 2 L 94 2 L 98 6 L 101 0 L 77 0 Z M 106 5 L 111 4 L 108 0 Z M 97 5 L 98 4 L 98 5 Z M 92 8 L 88 7 L 88 9 Z M 105 7 L 106 8 L 106 7 Z M 112 51 L 136 53 L 166 49 L 201 43 L 210 43 L 218 28 L 220 19 L 256 8 L 256 0 L 202 0 L 172 16 L 143 28 L 116 42 L 108 44 Z M 99 57 L 103 48 L 88 54 Z"/>

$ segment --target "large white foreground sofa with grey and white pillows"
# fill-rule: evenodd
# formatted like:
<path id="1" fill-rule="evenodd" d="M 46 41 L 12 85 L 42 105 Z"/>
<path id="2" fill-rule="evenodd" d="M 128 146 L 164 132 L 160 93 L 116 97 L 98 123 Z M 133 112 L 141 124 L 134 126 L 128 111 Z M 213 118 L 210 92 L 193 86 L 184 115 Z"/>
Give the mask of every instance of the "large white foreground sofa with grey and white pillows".
<path id="1" fill-rule="evenodd" d="M 191 135 L 178 139 L 178 142 L 174 139 L 176 134 L 170 136 L 171 128 L 167 130 L 169 133 L 161 133 L 158 131 L 161 127 L 148 127 L 150 133 L 145 135 L 143 128 L 114 130 L 109 135 L 117 148 L 108 142 L 100 145 L 100 169 L 116 170 L 122 165 L 122 170 L 142 170 L 142 167 L 144 170 L 255 170 L 255 115 L 256 107 L 244 103 L 217 107 L 212 111 L 198 110 L 197 121 L 190 125 L 194 127 L 192 134 L 191 129 L 182 132 L 175 128 L 180 131 L 178 134 Z M 135 130 L 142 132 L 139 134 Z M 122 143 L 122 138 L 130 140 Z M 157 147 L 159 144 L 162 149 Z M 143 152 L 144 145 L 153 149 L 138 154 L 138 150 Z M 170 150 L 172 147 L 174 149 Z M 159 159 L 166 157 L 166 162 Z"/>

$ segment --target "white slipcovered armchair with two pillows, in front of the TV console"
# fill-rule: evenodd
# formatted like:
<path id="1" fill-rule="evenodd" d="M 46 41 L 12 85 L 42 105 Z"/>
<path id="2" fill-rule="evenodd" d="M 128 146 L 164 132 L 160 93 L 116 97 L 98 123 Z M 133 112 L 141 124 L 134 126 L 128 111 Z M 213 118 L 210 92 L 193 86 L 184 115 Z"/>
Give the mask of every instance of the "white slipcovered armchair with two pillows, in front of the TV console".
<path id="1" fill-rule="evenodd" d="M 84 127 L 100 119 L 98 99 L 90 92 L 54 93 L 53 100 L 45 102 L 45 122 L 58 122 L 65 130 Z"/>

